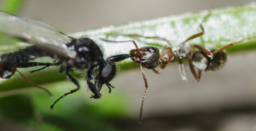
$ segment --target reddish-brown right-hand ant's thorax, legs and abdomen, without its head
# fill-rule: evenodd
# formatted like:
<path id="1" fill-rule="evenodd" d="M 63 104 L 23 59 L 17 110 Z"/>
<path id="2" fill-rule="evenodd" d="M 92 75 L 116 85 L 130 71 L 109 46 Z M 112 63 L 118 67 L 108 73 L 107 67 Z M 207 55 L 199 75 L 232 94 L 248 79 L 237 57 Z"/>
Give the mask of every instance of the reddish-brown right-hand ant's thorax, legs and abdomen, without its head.
<path id="1" fill-rule="evenodd" d="M 244 38 L 235 43 L 230 43 L 223 47 L 220 47 L 217 50 L 212 49 L 210 51 L 207 50 L 202 45 L 196 45 L 196 44 L 192 44 L 188 47 L 185 47 L 185 43 L 187 41 L 195 39 L 197 37 L 200 37 L 201 35 L 203 35 L 205 33 L 202 24 L 200 24 L 200 28 L 201 28 L 202 32 L 194 34 L 191 37 L 187 38 L 185 41 L 183 41 L 183 43 L 180 44 L 180 46 L 178 47 L 178 50 L 175 50 L 175 51 L 172 50 L 170 41 L 165 38 L 144 37 L 143 35 L 138 35 L 138 34 L 122 34 L 122 35 L 128 36 L 128 37 L 133 37 L 133 38 L 140 37 L 140 38 L 146 38 L 146 39 L 157 39 L 157 40 L 166 41 L 168 43 L 168 45 L 166 45 L 160 53 L 160 63 L 161 63 L 160 68 L 158 68 L 158 69 L 153 68 L 153 71 L 157 74 L 160 74 L 162 72 L 162 70 L 166 67 L 167 64 L 172 63 L 174 61 L 179 61 L 179 72 L 180 72 L 181 79 L 183 79 L 183 81 L 186 81 L 187 78 L 186 78 L 186 73 L 184 70 L 184 64 L 181 59 L 187 58 L 188 62 L 189 62 L 189 67 L 190 67 L 191 73 L 194 76 L 194 78 L 196 79 L 196 81 L 199 82 L 201 79 L 201 73 L 203 71 L 212 72 L 212 71 L 218 70 L 224 66 L 226 59 L 227 59 L 227 55 L 223 51 L 224 49 L 226 49 L 227 47 L 230 47 L 232 45 L 235 45 L 237 43 L 242 43 L 243 41 L 252 39 L 252 38 Z M 192 48 L 196 48 L 196 49 L 198 49 L 198 51 L 192 51 L 191 50 Z M 198 70 L 197 73 L 196 73 L 195 68 Z"/>

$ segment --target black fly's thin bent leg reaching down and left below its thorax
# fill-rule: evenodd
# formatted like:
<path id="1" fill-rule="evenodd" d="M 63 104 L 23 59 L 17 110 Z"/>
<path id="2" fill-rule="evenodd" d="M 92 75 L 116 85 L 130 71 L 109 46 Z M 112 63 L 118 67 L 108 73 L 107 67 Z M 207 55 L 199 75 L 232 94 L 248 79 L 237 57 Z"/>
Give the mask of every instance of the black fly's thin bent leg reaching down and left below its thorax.
<path id="1" fill-rule="evenodd" d="M 72 75 L 70 75 L 69 72 L 70 72 L 70 69 L 66 69 L 66 75 L 67 75 L 67 76 L 69 77 L 69 79 L 77 86 L 77 88 L 76 88 L 75 90 L 71 90 L 69 93 L 65 93 L 65 94 L 64 94 L 63 96 L 61 96 L 59 99 L 55 100 L 55 102 L 54 102 L 51 106 L 49 106 L 50 109 L 53 109 L 53 106 L 54 106 L 60 99 L 62 99 L 63 97 L 67 96 L 68 94 L 72 94 L 72 93 L 74 93 L 74 92 L 76 92 L 76 91 L 79 90 L 80 85 L 79 85 L 78 81 L 77 81 Z"/>

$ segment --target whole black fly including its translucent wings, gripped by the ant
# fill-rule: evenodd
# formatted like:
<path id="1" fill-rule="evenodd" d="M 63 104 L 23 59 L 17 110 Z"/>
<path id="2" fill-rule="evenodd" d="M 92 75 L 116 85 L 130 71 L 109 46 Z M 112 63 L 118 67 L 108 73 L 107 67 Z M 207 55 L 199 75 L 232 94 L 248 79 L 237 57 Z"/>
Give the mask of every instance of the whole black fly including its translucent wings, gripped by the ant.
<path id="1" fill-rule="evenodd" d="M 109 87 L 109 92 L 111 92 L 111 88 L 113 88 L 109 82 L 116 75 L 115 63 L 132 56 L 130 54 L 116 55 L 105 60 L 99 46 L 89 38 L 75 39 L 56 31 L 45 23 L 28 20 L 1 10 L 0 32 L 26 43 L 33 44 L 25 49 L 5 53 L 0 56 L 1 78 L 8 79 L 14 75 L 15 72 L 20 73 L 16 70 L 17 68 L 60 65 L 59 72 L 64 72 L 77 86 L 75 90 L 71 90 L 57 99 L 50 106 L 50 109 L 53 109 L 53 106 L 61 98 L 79 90 L 80 85 L 78 81 L 70 74 L 72 70 L 87 69 L 86 79 L 90 91 L 93 92 L 92 98 L 100 98 L 100 90 L 104 84 Z M 31 62 L 39 57 L 52 57 L 56 59 L 56 61 L 50 63 Z M 24 75 L 22 75 L 22 77 L 30 84 L 42 88 L 50 94 L 45 88 L 27 80 Z M 50 94 L 50 96 L 52 96 L 52 94 Z"/>

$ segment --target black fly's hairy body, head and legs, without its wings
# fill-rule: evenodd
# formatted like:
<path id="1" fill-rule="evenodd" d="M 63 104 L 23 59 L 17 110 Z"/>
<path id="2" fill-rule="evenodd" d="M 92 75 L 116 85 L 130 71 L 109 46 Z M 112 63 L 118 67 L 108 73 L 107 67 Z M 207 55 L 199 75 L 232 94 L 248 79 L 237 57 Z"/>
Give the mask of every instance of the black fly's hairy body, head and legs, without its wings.
<path id="1" fill-rule="evenodd" d="M 87 84 L 90 91 L 93 92 L 93 98 L 100 98 L 101 87 L 106 84 L 111 91 L 113 86 L 109 83 L 116 75 L 115 62 L 122 61 L 129 58 L 131 55 L 116 55 L 108 59 L 103 58 L 103 53 L 99 46 L 89 38 L 74 39 L 66 46 L 75 51 L 76 57 L 74 59 L 66 58 L 58 55 L 52 51 L 43 50 L 38 46 L 30 46 L 19 51 L 6 53 L 0 56 L 0 76 L 1 78 L 10 78 L 16 71 L 16 68 L 26 68 L 34 66 L 58 66 L 61 65 L 60 72 L 65 72 L 68 78 L 76 84 L 77 88 L 65 93 L 58 100 L 79 90 L 80 86 L 78 81 L 69 73 L 71 70 L 87 70 Z M 58 59 L 58 62 L 53 63 L 39 63 L 30 62 L 39 57 L 52 57 Z M 50 106 L 53 108 L 54 104 Z"/>

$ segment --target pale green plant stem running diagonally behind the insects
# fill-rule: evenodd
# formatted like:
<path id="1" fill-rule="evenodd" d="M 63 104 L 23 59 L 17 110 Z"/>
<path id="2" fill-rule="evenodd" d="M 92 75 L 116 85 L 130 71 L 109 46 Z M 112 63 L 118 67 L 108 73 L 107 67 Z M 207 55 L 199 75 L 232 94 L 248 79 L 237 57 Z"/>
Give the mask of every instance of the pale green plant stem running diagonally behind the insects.
<path id="1" fill-rule="evenodd" d="M 208 16 L 209 15 L 209 16 Z M 208 16 L 206 19 L 205 17 Z M 205 20 L 204 20 L 205 19 Z M 221 47 L 232 42 L 239 41 L 244 38 L 256 36 L 256 3 L 249 3 L 240 7 L 226 7 L 221 9 L 203 10 L 198 13 L 185 13 L 181 15 L 160 17 L 152 20 L 130 22 L 120 26 L 109 26 L 99 29 L 92 29 L 84 32 L 71 33 L 75 38 L 89 37 L 99 44 L 103 49 L 104 57 L 129 53 L 135 46 L 132 43 L 107 43 L 98 39 L 110 40 L 136 40 L 139 47 L 155 45 L 160 50 L 167 45 L 166 42 L 160 40 L 130 38 L 122 34 L 139 34 L 147 37 L 163 37 L 172 43 L 173 49 L 182 43 L 191 35 L 201 32 L 199 24 L 202 23 L 206 31 L 200 38 L 193 39 L 186 43 L 201 44 L 208 49 Z M 244 43 L 234 45 L 227 49 L 230 52 L 238 52 L 242 50 L 253 50 L 256 48 L 256 40 L 252 39 Z M 0 44 L 0 52 L 8 52 L 24 47 L 21 43 L 12 45 Z M 41 60 L 40 60 L 41 61 Z M 42 61 L 52 61 L 43 59 Z M 41 61 L 41 62 L 42 62 Z M 139 68 L 130 60 L 120 62 L 121 70 L 130 68 Z M 37 68 L 19 69 L 31 81 L 36 82 L 44 87 L 51 87 L 51 84 L 58 81 L 66 81 L 64 74 L 58 74 L 58 67 L 50 67 L 40 72 L 29 75 L 29 71 Z M 74 73 L 76 77 L 82 77 L 81 73 Z M 73 85 L 75 87 L 75 85 Z M 9 96 L 11 94 L 24 93 L 27 88 L 30 88 L 22 80 L 17 73 L 10 79 L 0 80 L 0 97 Z M 33 87 L 35 88 L 35 87 Z"/>

